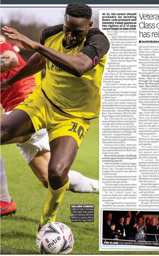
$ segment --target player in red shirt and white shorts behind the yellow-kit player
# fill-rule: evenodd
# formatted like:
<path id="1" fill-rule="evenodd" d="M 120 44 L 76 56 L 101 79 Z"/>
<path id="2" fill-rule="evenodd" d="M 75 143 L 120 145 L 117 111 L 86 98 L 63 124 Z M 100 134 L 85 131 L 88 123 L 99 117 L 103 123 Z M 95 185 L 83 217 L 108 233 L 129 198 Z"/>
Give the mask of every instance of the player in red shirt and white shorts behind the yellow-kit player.
<path id="1" fill-rule="evenodd" d="M 14 51 L 13 47 L 5 42 L 1 42 L 1 83 L 12 77 L 25 66 L 25 61 Z M 41 66 L 43 69 L 45 66 Z M 27 100 L 23 101 L 36 86 L 33 76 L 14 82 L 7 89 L 1 90 L 1 104 L 4 114 L 3 120 L 12 112 L 14 107 L 21 102 L 27 105 Z M 3 88 L 4 89 L 4 88 Z M 31 136 L 23 136 L 13 139 L 10 143 L 16 143 L 25 161 L 28 163 L 34 174 L 48 188 L 48 163 L 50 160 L 49 139 L 46 129 L 37 131 Z M 8 143 L 6 143 L 8 144 Z M 70 186 L 68 190 L 78 193 L 98 193 L 98 181 L 89 179 L 79 172 L 69 171 Z M 16 205 L 8 194 L 6 175 L 3 158 L 1 157 L 1 216 L 15 213 Z"/>

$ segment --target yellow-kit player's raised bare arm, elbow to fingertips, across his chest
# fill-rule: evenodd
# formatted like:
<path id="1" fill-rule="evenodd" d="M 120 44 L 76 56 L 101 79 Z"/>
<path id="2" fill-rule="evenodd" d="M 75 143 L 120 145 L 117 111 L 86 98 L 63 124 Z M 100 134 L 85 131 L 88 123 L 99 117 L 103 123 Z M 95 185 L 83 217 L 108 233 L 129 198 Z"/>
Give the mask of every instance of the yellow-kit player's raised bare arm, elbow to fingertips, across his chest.
<path id="1" fill-rule="evenodd" d="M 56 66 L 61 68 L 76 77 L 81 77 L 85 72 L 89 71 L 92 66 L 92 60 L 84 53 L 77 53 L 76 56 L 57 52 L 49 47 L 43 46 L 37 42 L 30 40 L 29 38 L 21 35 L 14 28 L 4 27 L 5 35 L 14 40 L 18 40 L 26 49 L 37 51 L 45 56 L 48 60 L 53 62 Z"/>

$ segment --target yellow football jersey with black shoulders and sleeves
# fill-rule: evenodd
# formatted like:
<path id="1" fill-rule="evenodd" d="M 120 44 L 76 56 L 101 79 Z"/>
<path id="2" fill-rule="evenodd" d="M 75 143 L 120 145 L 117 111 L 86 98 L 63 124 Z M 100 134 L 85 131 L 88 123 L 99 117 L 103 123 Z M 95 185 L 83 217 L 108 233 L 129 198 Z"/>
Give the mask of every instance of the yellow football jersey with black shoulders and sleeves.
<path id="1" fill-rule="evenodd" d="M 63 24 L 46 28 L 41 44 L 61 53 L 76 55 L 83 52 L 93 61 L 93 68 L 82 77 L 71 75 L 47 60 L 42 84 L 45 96 L 62 111 L 80 118 L 92 119 L 100 113 L 100 86 L 109 50 L 109 41 L 98 29 L 92 28 L 76 47 L 64 47 Z"/>

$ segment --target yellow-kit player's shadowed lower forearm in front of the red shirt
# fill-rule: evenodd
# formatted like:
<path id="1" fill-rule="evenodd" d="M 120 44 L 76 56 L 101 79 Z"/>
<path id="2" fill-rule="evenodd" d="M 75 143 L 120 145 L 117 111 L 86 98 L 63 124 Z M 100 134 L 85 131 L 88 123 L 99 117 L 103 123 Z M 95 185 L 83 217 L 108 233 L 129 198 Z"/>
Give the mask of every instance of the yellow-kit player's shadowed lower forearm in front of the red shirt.
<path id="1" fill-rule="evenodd" d="M 45 68 L 45 66 L 45 57 L 43 57 L 39 53 L 35 53 L 23 68 L 21 68 L 15 75 L 13 75 L 7 80 L 7 83 L 9 85 L 12 85 L 21 79 L 38 73 L 43 68 Z"/>

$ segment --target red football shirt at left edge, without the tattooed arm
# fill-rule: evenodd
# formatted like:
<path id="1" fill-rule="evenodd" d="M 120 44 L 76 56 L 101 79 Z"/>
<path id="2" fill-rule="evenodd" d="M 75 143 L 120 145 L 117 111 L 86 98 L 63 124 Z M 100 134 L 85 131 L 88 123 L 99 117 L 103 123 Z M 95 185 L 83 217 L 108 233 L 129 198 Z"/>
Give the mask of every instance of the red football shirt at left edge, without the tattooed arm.
<path id="1" fill-rule="evenodd" d="M 26 62 L 21 58 L 21 56 L 13 49 L 13 47 L 8 44 L 1 42 L 1 55 L 8 51 L 17 55 L 19 60 L 19 66 L 14 68 L 8 72 L 1 73 L 1 82 L 11 77 L 15 73 L 17 73 L 23 66 L 25 66 Z M 1 105 L 5 112 L 11 111 L 19 105 L 25 98 L 28 98 L 28 95 L 32 92 L 36 86 L 34 76 L 30 76 L 24 78 L 10 86 L 10 88 L 6 90 L 1 90 Z"/>

